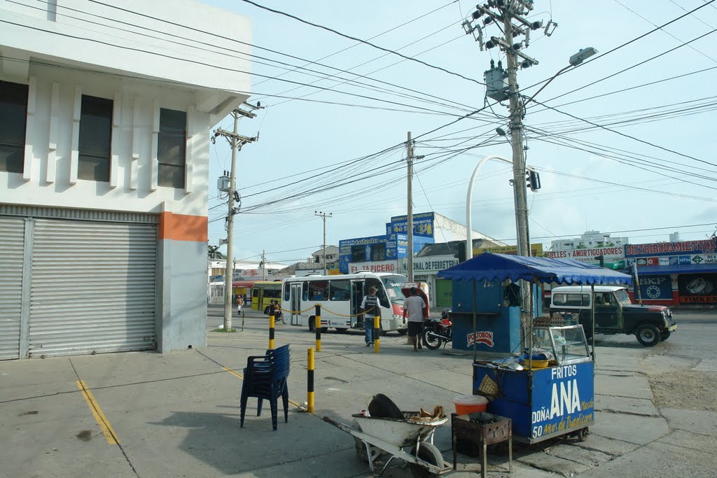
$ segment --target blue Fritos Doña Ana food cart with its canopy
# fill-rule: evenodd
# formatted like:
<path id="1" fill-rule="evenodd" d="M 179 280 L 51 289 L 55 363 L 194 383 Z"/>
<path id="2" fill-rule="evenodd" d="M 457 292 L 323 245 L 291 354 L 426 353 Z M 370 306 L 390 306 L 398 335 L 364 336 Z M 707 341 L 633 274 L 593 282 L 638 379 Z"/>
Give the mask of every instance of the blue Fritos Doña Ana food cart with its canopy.
<path id="1" fill-rule="evenodd" d="M 525 281 L 531 285 L 632 282 L 627 274 L 572 259 L 490 252 L 442 270 L 438 277 L 474 282 Z M 523 344 L 528 353 L 523 362 L 514 356 L 478 360 L 473 343 L 473 393 L 490 398 L 488 412 L 513 421 L 517 441 L 533 444 L 561 435 L 585 439 L 588 426 L 594 424 L 594 333 L 589 344 L 581 325 L 563 317 L 534 319 L 531 311 L 527 312 Z"/>

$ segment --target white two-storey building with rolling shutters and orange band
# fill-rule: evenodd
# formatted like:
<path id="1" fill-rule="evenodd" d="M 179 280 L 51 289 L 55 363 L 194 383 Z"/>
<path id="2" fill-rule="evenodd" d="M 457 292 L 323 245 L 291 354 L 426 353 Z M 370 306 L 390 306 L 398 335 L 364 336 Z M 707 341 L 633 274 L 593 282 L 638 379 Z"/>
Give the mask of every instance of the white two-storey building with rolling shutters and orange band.
<path id="1" fill-rule="evenodd" d="M 0 358 L 205 345 L 209 133 L 249 95 L 250 21 L 190 0 L 0 20 Z"/>

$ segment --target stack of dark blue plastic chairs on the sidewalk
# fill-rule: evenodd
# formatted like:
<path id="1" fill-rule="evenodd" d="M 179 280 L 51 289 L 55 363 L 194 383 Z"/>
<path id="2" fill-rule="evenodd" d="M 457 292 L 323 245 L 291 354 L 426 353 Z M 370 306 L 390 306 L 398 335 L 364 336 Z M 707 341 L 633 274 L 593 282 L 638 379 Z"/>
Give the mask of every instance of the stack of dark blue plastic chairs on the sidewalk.
<path id="1" fill-rule="evenodd" d="M 284 402 L 284 421 L 288 423 L 289 415 L 289 345 L 282 345 L 275 350 L 267 350 L 266 355 L 247 358 L 247 368 L 244 368 L 244 383 L 242 383 L 241 398 L 241 424 L 244 428 L 244 415 L 247 411 L 247 398 L 258 398 L 257 416 L 262 414 L 262 402 L 269 401 L 271 406 L 271 422 L 274 430 L 277 429 L 277 400 L 281 396 Z"/>

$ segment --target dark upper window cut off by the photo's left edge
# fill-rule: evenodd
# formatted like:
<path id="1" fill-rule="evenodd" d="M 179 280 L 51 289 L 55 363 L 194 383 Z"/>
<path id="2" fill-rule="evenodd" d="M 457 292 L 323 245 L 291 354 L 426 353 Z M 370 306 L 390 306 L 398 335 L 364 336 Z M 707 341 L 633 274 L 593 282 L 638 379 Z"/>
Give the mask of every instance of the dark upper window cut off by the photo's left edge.
<path id="1" fill-rule="evenodd" d="M 0 171 L 22 173 L 27 85 L 0 81 Z"/>

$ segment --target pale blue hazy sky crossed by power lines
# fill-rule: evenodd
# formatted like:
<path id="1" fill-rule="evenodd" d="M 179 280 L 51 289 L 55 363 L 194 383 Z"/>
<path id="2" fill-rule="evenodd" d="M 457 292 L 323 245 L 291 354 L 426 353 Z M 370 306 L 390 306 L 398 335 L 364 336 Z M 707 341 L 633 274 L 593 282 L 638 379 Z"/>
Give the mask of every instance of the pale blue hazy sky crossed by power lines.
<path id="1" fill-rule="evenodd" d="M 323 242 L 315 211 L 332 214 L 327 244 L 384 234 L 391 216 L 407 212 L 409 131 L 414 154 L 423 156 L 414 163 L 414 213 L 435 211 L 465 224 L 478 161 L 512 157 L 508 140 L 495 133 L 508 131 L 508 103 L 486 101 L 483 85 L 490 60 L 505 66 L 505 55 L 481 51 L 462 27 L 475 4 L 255 2 L 373 47 L 247 1 L 204 3 L 251 19 L 248 101 L 264 106 L 257 118 L 239 122 L 240 134 L 260 137 L 237 156 L 236 259 L 257 260 L 262 251 L 269 262 L 307 259 Z M 523 118 L 526 162 L 542 185 L 528 191 L 531 242 L 547 248 L 587 230 L 632 244 L 668 241 L 675 231 L 682 240 L 711 236 L 717 1 L 536 0 L 528 18 L 558 24 L 549 36 L 531 32 L 521 51 L 538 64 L 518 70 L 523 95 L 545 85 Z M 484 35 L 502 33 L 493 24 Z M 586 47 L 598 54 L 554 77 Z M 232 125 L 225 118 L 220 127 Z M 210 158 L 209 244 L 227 237 L 214 179 L 230 167 L 229 145 L 218 140 Z M 509 164 L 488 161 L 471 202 L 473 229 L 506 244 L 516 243 L 511 178 Z"/>

